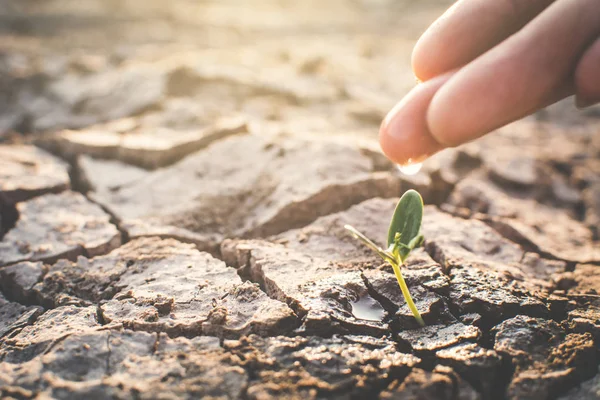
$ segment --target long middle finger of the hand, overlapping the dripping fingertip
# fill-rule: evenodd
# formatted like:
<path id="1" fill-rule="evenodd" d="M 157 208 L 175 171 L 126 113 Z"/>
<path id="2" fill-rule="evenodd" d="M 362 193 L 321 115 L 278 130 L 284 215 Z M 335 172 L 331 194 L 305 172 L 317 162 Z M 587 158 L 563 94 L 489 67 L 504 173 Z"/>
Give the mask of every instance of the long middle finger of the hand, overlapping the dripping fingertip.
<path id="1" fill-rule="evenodd" d="M 572 81 L 600 33 L 598 0 L 561 0 L 459 70 L 434 96 L 431 134 L 446 146 L 475 139 L 543 107 Z"/>

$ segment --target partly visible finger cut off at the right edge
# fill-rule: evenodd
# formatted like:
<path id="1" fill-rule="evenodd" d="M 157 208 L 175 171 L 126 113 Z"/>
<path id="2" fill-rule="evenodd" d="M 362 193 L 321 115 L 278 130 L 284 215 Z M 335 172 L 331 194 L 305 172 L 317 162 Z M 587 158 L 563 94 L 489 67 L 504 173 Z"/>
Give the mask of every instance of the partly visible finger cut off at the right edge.
<path id="1" fill-rule="evenodd" d="M 588 47 L 575 70 L 577 106 L 600 102 L 600 38 Z"/>

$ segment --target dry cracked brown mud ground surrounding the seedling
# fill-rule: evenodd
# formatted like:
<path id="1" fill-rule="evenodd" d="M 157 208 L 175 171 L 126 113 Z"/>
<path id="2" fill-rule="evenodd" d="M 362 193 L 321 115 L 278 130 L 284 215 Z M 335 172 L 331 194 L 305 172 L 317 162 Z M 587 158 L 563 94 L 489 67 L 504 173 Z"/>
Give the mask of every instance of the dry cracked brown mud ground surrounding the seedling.
<path id="1" fill-rule="evenodd" d="M 444 1 L 0 1 L 0 398 L 598 399 L 600 119 L 400 175 Z M 404 275 L 382 243 L 427 204 Z"/>

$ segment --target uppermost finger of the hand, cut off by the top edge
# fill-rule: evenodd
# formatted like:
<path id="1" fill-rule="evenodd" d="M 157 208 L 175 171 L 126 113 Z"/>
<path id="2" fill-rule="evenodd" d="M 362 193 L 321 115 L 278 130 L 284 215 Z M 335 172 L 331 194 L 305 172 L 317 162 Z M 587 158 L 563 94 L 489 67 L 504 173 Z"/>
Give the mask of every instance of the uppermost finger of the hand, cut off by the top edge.
<path id="1" fill-rule="evenodd" d="M 417 42 L 412 54 L 417 78 L 468 64 L 520 30 L 554 0 L 460 0 Z"/>

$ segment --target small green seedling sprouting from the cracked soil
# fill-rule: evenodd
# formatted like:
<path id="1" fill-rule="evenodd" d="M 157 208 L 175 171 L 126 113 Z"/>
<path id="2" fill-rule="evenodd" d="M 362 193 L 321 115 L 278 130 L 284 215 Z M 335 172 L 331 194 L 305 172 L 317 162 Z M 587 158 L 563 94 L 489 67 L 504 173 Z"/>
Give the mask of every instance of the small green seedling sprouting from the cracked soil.
<path id="1" fill-rule="evenodd" d="M 412 311 L 415 319 L 421 326 L 425 326 L 419 310 L 410 296 L 400 267 L 408 258 L 410 252 L 423 244 L 423 235 L 421 235 L 421 221 L 423 220 L 423 199 L 415 190 L 409 190 L 402 197 L 394 210 L 392 222 L 388 230 L 387 249 L 384 250 L 377 246 L 365 235 L 357 231 L 350 225 L 344 226 L 352 235 L 376 252 L 384 261 L 391 264 L 394 274 L 402 290 L 402 295 L 406 304 Z"/>

